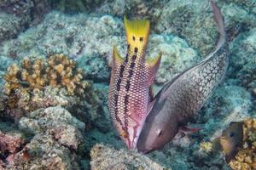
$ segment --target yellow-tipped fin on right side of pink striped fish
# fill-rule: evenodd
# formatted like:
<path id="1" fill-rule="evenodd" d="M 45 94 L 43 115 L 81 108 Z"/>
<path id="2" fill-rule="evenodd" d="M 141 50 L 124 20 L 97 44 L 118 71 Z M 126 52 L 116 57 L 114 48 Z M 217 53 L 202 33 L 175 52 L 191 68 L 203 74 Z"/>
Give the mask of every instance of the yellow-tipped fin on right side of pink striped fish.
<path id="1" fill-rule="evenodd" d="M 160 66 L 160 60 L 161 60 L 162 54 L 158 54 L 154 58 L 147 59 L 146 61 L 146 67 L 148 68 L 148 85 L 150 86 L 154 82 L 154 77 L 158 71 L 158 68 Z"/>

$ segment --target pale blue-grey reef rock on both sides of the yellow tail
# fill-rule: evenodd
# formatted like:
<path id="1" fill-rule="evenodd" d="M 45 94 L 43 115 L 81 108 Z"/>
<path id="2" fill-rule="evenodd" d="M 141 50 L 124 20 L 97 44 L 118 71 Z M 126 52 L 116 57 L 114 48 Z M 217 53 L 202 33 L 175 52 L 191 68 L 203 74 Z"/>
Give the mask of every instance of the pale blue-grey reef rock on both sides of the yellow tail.
<path id="1" fill-rule="evenodd" d="M 53 29 L 54 28 L 54 29 Z M 50 31 L 49 31 L 50 30 Z M 95 82 L 109 81 L 109 64 L 113 44 L 125 56 L 125 36 L 121 20 L 105 15 L 72 16 L 50 13 L 44 22 L 15 39 L 3 44 L 0 54 L 44 56 L 62 53 L 77 60 L 85 76 Z M 166 82 L 178 72 L 194 65 L 200 58 L 187 42 L 179 37 L 152 34 L 148 41 L 147 56 L 163 53 L 157 82 Z M 168 74 L 166 74 L 166 72 Z"/>

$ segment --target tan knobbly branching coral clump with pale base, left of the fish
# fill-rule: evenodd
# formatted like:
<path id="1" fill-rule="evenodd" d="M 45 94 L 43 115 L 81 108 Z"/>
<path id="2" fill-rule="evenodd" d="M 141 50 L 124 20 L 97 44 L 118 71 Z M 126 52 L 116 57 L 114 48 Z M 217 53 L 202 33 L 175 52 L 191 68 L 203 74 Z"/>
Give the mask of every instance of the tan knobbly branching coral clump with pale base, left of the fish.
<path id="1" fill-rule="evenodd" d="M 83 80 L 82 69 L 63 54 L 49 56 L 46 61 L 25 58 L 20 67 L 10 65 L 4 79 L 9 109 L 25 111 L 76 103 L 91 88 L 91 83 Z"/>

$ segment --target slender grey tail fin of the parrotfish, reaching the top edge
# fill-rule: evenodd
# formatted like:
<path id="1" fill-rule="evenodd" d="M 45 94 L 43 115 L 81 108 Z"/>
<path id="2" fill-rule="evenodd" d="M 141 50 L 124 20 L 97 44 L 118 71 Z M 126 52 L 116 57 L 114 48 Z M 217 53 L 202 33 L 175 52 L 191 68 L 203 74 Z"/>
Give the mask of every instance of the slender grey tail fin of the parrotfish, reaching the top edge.
<path id="1" fill-rule="evenodd" d="M 214 0 L 211 0 L 211 6 L 212 6 L 212 12 L 213 12 L 213 18 L 218 25 L 218 45 L 217 48 L 220 48 L 224 43 L 226 42 L 226 32 L 224 27 L 224 17 L 221 14 L 220 9 L 218 8 L 217 4 L 214 2 Z"/>

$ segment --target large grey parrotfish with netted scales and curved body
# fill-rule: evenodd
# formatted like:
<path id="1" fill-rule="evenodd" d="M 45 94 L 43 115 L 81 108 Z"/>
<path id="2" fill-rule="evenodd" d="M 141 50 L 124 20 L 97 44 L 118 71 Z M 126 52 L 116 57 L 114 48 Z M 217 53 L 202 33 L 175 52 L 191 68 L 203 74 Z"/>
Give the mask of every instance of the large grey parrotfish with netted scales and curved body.
<path id="1" fill-rule="evenodd" d="M 224 79 L 229 65 L 224 18 L 213 1 L 211 7 L 218 25 L 218 43 L 205 59 L 167 82 L 154 97 L 137 141 L 139 152 L 147 154 L 172 141 L 179 127 L 201 110 L 212 90 Z"/>

